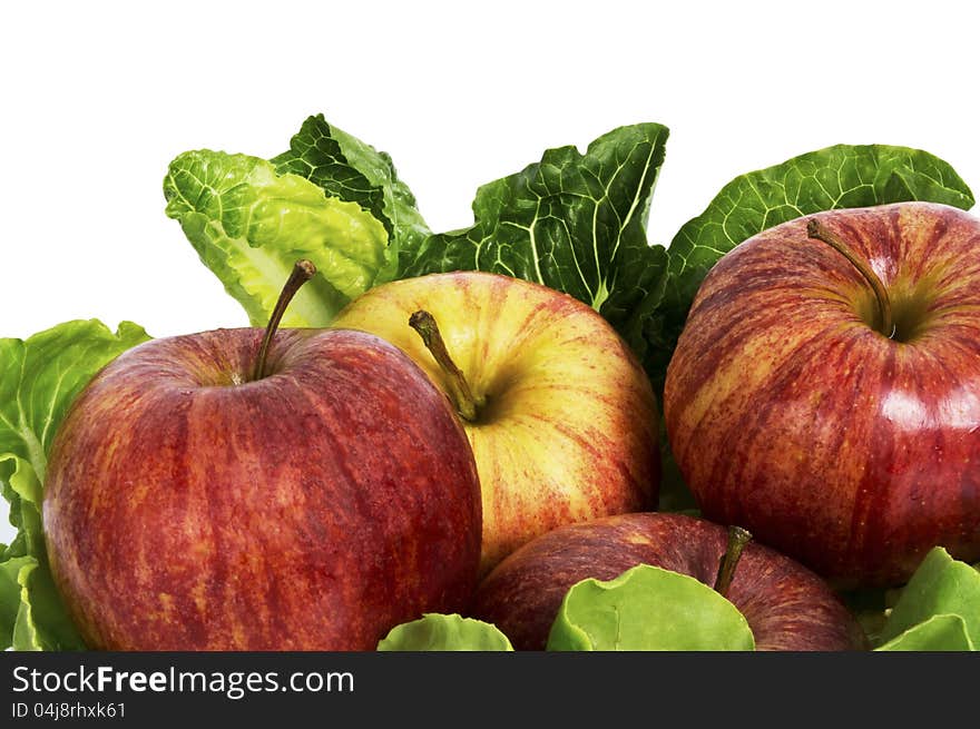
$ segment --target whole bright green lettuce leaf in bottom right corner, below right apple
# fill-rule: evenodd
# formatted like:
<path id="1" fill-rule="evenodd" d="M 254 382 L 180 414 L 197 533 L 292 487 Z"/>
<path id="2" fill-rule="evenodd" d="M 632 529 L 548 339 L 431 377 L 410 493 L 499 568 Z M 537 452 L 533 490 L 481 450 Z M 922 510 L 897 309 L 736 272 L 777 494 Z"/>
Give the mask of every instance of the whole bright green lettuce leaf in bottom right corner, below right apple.
<path id="1" fill-rule="evenodd" d="M 947 618 L 933 620 L 940 615 Z M 937 546 L 902 589 L 880 640 L 891 646 L 890 650 L 900 649 L 895 646 L 918 646 L 905 650 L 951 650 L 948 646 L 962 642 L 957 633 L 959 623 L 950 617 L 962 621 L 967 643 L 980 647 L 980 572 Z M 910 631 L 914 631 L 911 637 L 906 636 Z"/>

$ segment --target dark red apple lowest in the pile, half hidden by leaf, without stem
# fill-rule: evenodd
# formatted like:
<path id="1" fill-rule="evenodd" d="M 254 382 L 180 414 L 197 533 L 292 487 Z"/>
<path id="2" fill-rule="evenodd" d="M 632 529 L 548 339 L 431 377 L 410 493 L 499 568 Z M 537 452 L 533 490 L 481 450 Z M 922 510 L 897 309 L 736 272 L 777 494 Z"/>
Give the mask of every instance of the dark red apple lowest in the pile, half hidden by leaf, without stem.
<path id="1" fill-rule="evenodd" d="M 620 514 L 571 524 L 526 544 L 481 582 L 469 613 L 494 623 L 517 650 L 543 650 L 569 588 L 611 580 L 637 564 L 713 585 L 727 530 L 676 513 Z M 865 648 L 860 625 L 823 580 L 797 562 L 749 542 L 727 599 L 742 611 L 757 650 Z"/>

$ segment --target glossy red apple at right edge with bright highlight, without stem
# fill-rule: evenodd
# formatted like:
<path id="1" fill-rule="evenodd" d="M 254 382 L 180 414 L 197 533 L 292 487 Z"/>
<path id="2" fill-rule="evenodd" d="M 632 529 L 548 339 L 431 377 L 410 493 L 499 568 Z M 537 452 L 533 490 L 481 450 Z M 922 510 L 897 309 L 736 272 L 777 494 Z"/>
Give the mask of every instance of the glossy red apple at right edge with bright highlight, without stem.
<path id="1" fill-rule="evenodd" d="M 933 545 L 980 559 L 980 221 L 924 203 L 814 217 L 871 263 L 903 341 L 865 323 L 869 286 L 805 219 L 746 240 L 667 371 L 677 464 L 708 519 L 837 587 L 902 583 Z"/>

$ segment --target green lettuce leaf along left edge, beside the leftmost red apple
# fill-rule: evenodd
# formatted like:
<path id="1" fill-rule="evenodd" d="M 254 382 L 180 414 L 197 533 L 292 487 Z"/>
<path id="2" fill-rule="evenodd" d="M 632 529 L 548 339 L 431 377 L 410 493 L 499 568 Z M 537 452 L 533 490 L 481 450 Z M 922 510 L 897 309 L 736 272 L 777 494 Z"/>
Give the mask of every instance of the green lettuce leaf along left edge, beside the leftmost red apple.
<path id="1" fill-rule="evenodd" d="M 41 523 L 48 451 L 71 402 L 119 354 L 145 342 L 124 322 L 59 324 L 28 339 L 0 339 L 0 492 L 13 541 L 0 553 L 0 647 L 85 648 L 51 579 Z"/>

